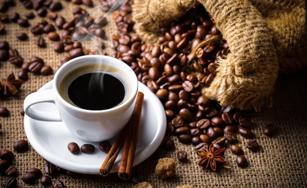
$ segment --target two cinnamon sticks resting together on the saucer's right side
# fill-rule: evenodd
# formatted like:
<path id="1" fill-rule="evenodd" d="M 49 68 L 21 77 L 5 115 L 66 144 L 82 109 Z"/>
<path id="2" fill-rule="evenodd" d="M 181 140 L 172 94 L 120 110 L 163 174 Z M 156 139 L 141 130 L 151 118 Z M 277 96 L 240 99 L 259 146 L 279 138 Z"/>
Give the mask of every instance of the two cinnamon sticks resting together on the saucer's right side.
<path id="1" fill-rule="evenodd" d="M 118 169 L 117 174 L 123 180 L 130 179 L 137 144 L 143 102 L 144 94 L 142 92 L 138 92 L 132 116 L 129 119 L 128 124 L 121 131 L 118 138 L 111 146 L 111 149 L 108 152 L 107 156 L 105 157 L 102 166 L 99 169 L 100 175 L 107 176 L 109 174 L 119 152 L 124 146 L 120 167 Z"/>

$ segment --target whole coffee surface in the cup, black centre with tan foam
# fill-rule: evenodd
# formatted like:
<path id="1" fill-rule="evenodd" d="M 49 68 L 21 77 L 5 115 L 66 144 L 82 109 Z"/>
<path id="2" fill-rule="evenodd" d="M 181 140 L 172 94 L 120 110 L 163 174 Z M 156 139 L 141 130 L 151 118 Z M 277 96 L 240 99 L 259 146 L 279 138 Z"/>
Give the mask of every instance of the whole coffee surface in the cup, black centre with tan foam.
<path id="1" fill-rule="evenodd" d="M 125 73 L 110 65 L 84 65 L 62 79 L 59 93 L 65 101 L 82 109 L 109 109 L 128 97 L 130 86 L 125 77 Z"/>

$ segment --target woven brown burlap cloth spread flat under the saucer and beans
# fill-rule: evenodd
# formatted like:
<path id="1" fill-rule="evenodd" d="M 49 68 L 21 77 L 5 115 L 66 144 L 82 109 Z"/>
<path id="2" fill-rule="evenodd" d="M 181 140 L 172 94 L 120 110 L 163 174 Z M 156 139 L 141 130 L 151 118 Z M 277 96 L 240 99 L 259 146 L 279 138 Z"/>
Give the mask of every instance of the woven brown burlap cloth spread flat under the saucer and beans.
<path id="1" fill-rule="evenodd" d="M 20 15 L 33 11 L 26 10 L 23 5 L 17 2 L 17 6 L 10 7 L 8 13 L 18 12 Z M 61 1 L 64 9 L 58 12 L 67 20 L 72 16 L 72 8 L 77 5 L 71 2 Z M 98 3 L 96 2 L 96 5 Z M 86 6 L 82 6 L 87 9 Z M 35 14 L 36 12 L 33 11 Z M 36 16 L 30 20 L 34 25 L 40 19 Z M 111 16 L 106 29 L 107 36 L 111 36 L 116 31 L 114 21 Z M 34 44 L 33 34 L 29 28 L 22 28 L 15 23 L 6 24 L 6 34 L 0 35 L 0 41 L 9 42 L 12 48 L 16 48 L 20 55 L 29 60 L 32 56 L 41 57 L 53 70 L 60 66 L 60 57 L 64 54 L 57 54 L 53 50 L 54 42 L 46 39 L 47 47 L 39 48 Z M 29 39 L 20 42 L 16 38 L 18 32 L 25 32 Z M 91 42 L 83 42 L 85 48 L 95 49 Z M 107 49 L 107 51 L 111 51 Z M 17 75 L 20 68 L 9 62 L 0 62 L 0 77 L 5 78 L 13 72 Z M 41 86 L 52 79 L 50 76 L 37 76 L 29 74 L 29 80 L 22 85 L 20 95 L 9 100 L 0 100 L 0 106 L 5 106 L 10 111 L 8 118 L 0 117 L 2 124 L 0 135 L 0 149 L 14 151 L 13 143 L 17 140 L 27 139 L 24 131 L 23 116 L 20 110 L 23 108 L 23 100 L 29 93 L 36 91 Z M 248 159 L 249 167 L 239 168 L 235 164 L 235 155 L 227 148 L 225 158 L 227 165 L 231 169 L 221 169 L 217 172 L 203 169 L 197 165 L 199 156 L 194 151 L 194 146 L 184 145 L 178 142 L 177 138 L 168 135 L 175 141 L 176 149 L 171 151 L 158 150 L 152 157 L 133 168 L 133 173 L 141 172 L 145 175 L 145 181 L 153 185 L 154 188 L 176 188 L 179 185 L 192 185 L 195 188 L 304 188 L 307 187 L 307 72 L 295 73 L 278 78 L 274 87 L 274 105 L 272 108 L 263 109 L 259 113 L 253 113 L 253 131 L 256 139 L 261 145 L 260 151 L 252 152 L 244 147 L 245 156 Z M 264 125 L 272 123 L 278 127 L 276 136 L 268 138 L 262 133 Z M 247 142 L 243 137 L 239 137 L 239 145 L 244 146 Z M 181 163 L 176 159 L 177 152 L 186 150 L 188 161 Z M 26 185 L 22 180 L 22 175 L 27 168 L 37 167 L 44 172 L 45 160 L 30 146 L 24 153 L 14 151 L 15 159 L 13 164 L 18 168 L 18 187 L 42 187 L 39 183 Z M 175 178 L 161 180 L 154 174 L 154 167 L 160 157 L 171 157 L 176 159 L 177 175 Z M 67 175 L 51 176 L 52 179 L 60 179 L 68 188 L 132 188 L 131 181 L 123 181 L 117 174 L 108 177 L 99 175 L 82 175 L 72 178 Z M 0 175 L 0 184 L 4 184 L 8 177 Z"/>

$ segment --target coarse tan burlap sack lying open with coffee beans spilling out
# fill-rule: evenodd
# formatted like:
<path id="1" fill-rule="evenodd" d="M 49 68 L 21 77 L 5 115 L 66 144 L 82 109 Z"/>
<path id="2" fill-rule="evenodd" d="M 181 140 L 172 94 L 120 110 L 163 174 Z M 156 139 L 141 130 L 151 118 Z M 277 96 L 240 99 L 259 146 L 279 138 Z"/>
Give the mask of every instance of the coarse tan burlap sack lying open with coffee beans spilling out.
<path id="1" fill-rule="evenodd" d="M 199 3 L 230 47 L 213 82 L 202 90 L 209 98 L 258 111 L 272 104 L 279 72 L 307 67 L 304 0 L 134 0 L 137 33 L 156 42 L 161 27 Z"/>

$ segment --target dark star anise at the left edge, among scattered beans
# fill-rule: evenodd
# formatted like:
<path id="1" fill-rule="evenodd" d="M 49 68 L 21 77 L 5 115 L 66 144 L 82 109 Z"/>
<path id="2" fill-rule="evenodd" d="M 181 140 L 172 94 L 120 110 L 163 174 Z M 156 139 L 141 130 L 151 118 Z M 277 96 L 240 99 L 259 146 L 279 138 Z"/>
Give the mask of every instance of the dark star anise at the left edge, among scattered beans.
<path id="1" fill-rule="evenodd" d="M 14 73 L 11 73 L 7 79 L 0 80 L 0 95 L 3 94 L 4 96 L 9 95 L 17 95 L 18 89 L 23 84 L 23 81 L 16 80 Z"/>

